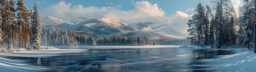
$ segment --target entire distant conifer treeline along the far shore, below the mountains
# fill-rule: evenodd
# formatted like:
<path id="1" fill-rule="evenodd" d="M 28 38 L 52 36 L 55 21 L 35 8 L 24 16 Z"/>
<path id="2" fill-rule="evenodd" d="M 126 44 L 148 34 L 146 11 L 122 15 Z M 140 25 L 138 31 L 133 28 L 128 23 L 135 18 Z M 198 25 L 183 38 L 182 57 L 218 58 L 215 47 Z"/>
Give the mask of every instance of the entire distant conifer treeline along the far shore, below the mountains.
<path id="1" fill-rule="evenodd" d="M 96 40 L 96 41 L 95 41 Z M 97 46 L 113 46 L 113 45 L 159 45 L 156 41 L 151 41 L 146 36 L 121 37 L 110 36 L 101 37 L 93 34 L 76 33 L 74 30 L 42 27 L 41 34 L 42 46 L 93 46 L 96 42 Z"/>

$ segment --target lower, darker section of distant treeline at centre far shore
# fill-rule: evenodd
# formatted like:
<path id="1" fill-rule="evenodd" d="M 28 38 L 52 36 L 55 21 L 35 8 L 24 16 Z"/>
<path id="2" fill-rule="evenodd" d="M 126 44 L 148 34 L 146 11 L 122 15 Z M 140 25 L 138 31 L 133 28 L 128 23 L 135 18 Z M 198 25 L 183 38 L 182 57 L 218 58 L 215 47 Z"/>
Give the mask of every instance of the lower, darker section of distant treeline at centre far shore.
<path id="1" fill-rule="evenodd" d="M 141 38 L 140 36 L 121 37 L 110 36 L 109 38 L 98 38 L 96 44 L 99 46 L 111 46 L 111 45 L 159 45 L 156 41 L 149 40 L 148 37 Z"/>

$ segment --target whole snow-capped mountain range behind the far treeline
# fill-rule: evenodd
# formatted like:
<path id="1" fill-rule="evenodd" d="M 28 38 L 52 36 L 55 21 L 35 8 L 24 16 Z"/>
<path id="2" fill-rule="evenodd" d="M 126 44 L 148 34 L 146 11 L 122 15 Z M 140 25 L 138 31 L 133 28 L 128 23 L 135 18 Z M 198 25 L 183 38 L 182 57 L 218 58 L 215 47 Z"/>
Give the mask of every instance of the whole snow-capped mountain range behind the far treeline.
<path id="1" fill-rule="evenodd" d="M 163 39 L 180 38 L 183 36 L 181 32 L 166 24 L 162 24 L 158 27 L 152 27 L 154 22 L 138 22 L 134 24 L 126 24 L 119 19 L 109 17 L 101 17 L 99 19 L 89 20 L 85 17 L 78 17 L 77 19 L 67 22 L 67 20 L 57 19 L 49 16 L 45 19 L 42 19 L 41 24 L 46 28 L 54 27 L 74 30 L 76 33 L 96 34 L 102 37 L 120 35 L 147 36 L 151 39 Z"/>

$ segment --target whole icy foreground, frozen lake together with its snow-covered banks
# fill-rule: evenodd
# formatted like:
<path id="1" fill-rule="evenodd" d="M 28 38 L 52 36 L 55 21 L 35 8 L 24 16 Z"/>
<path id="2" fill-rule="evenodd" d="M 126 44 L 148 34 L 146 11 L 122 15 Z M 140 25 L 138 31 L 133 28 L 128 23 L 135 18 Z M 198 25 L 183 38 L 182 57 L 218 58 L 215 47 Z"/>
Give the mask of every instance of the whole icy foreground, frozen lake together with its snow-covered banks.
<path id="1" fill-rule="evenodd" d="M 4 72 L 255 71 L 256 54 L 252 51 L 179 46 L 56 48 L 59 49 L 0 52 L 0 69 Z"/>

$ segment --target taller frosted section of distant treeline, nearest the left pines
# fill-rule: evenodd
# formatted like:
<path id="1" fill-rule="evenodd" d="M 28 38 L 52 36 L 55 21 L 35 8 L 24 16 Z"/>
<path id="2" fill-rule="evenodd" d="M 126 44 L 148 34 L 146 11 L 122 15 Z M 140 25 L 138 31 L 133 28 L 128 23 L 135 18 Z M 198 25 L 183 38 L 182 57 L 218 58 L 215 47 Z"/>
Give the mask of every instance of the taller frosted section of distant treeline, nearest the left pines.
<path id="1" fill-rule="evenodd" d="M 93 45 L 94 39 L 90 34 L 76 34 L 75 31 L 60 28 L 42 28 L 43 46 L 81 46 Z"/>

